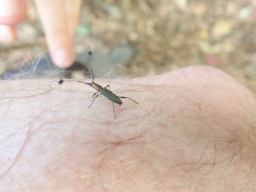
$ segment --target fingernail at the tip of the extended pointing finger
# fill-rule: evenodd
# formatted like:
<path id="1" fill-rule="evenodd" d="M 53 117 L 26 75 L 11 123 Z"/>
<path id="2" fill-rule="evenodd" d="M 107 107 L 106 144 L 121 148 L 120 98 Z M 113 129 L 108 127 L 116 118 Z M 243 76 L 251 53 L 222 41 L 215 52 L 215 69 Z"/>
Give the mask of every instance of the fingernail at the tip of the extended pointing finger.
<path id="1" fill-rule="evenodd" d="M 74 61 L 74 53 L 67 49 L 59 49 L 53 52 L 52 59 L 59 67 L 70 67 Z"/>

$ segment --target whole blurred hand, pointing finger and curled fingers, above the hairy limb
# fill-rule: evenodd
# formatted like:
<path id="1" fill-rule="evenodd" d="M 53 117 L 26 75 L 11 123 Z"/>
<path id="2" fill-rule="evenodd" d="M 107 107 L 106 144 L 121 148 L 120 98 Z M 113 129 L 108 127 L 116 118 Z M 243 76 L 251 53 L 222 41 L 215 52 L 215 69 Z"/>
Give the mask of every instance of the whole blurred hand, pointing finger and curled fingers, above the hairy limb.
<path id="1" fill-rule="evenodd" d="M 73 36 L 81 0 L 34 0 L 44 28 L 52 60 L 57 66 L 69 67 L 74 61 Z M 0 43 L 17 39 L 15 25 L 27 18 L 26 0 L 0 1 Z"/>

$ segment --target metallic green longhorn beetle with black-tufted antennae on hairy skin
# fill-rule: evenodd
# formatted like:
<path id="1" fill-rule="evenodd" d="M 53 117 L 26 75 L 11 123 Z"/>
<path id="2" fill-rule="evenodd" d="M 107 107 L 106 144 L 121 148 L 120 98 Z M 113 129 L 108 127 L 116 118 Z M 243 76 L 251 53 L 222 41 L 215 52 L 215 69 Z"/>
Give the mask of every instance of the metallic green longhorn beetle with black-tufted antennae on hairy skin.
<path id="1" fill-rule="evenodd" d="M 88 47 L 89 51 L 88 51 L 88 65 L 89 65 L 89 70 L 91 72 L 91 78 L 92 78 L 92 83 L 85 83 L 85 82 L 82 82 L 82 81 L 77 81 L 77 80 L 63 80 L 63 79 L 60 79 L 59 81 L 59 85 L 61 85 L 63 82 L 78 82 L 78 83 L 84 83 L 86 85 L 89 85 L 91 87 L 93 87 L 95 90 L 97 90 L 96 93 L 94 93 L 92 95 L 92 103 L 89 107 L 92 106 L 94 100 L 99 97 L 99 95 L 103 95 L 105 98 L 107 98 L 108 100 L 110 100 L 112 102 L 112 106 L 113 106 L 113 110 L 114 110 L 114 116 L 116 118 L 116 111 L 115 111 L 115 107 L 114 107 L 114 103 L 117 103 L 119 105 L 121 105 L 123 102 L 120 98 L 122 99 L 130 99 L 132 100 L 133 102 L 137 103 L 138 105 L 140 105 L 140 103 L 134 101 L 133 99 L 131 98 L 127 98 L 127 97 L 123 97 L 123 96 L 118 96 L 116 95 L 115 93 L 113 93 L 112 91 L 110 91 L 110 85 L 107 85 L 106 87 L 102 87 L 101 85 L 97 84 L 97 83 L 94 83 L 94 75 L 93 75 L 93 72 L 92 72 L 92 66 L 91 66 L 91 57 L 92 57 L 92 51 L 90 49 L 90 47 Z M 109 88 L 109 90 L 107 89 Z M 88 107 L 88 108 L 89 108 Z"/>

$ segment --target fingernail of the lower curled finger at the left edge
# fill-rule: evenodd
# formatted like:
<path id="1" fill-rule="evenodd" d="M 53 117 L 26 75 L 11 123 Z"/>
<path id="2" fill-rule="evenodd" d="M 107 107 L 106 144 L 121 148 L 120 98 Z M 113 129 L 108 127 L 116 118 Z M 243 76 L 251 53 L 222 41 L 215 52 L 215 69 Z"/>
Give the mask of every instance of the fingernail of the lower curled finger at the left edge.
<path id="1" fill-rule="evenodd" d="M 0 42 L 12 43 L 17 39 L 17 35 L 12 26 L 0 25 Z"/>

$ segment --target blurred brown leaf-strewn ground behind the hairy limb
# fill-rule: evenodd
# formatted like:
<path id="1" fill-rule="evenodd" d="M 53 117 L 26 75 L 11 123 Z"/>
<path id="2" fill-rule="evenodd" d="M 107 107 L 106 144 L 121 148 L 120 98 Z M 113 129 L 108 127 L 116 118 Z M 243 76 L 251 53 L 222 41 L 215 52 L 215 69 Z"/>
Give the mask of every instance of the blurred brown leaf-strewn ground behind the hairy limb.
<path id="1" fill-rule="evenodd" d="M 47 58 L 44 31 L 33 3 L 28 4 L 29 18 L 17 27 L 19 41 L 0 45 L 1 73 L 42 55 Z M 122 69 L 107 77 L 206 65 L 226 71 L 256 92 L 253 0 L 86 0 L 74 41 L 80 57 L 90 46 L 99 66 L 109 62 Z M 102 71 L 98 77 L 111 74 L 111 67 Z"/>

